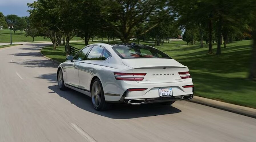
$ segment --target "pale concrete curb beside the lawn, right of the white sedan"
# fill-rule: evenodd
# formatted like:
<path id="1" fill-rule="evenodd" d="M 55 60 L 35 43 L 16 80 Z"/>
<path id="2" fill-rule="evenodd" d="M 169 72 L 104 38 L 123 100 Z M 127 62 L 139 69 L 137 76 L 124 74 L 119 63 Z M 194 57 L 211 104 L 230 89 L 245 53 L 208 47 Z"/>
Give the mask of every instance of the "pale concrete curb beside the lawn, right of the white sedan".
<path id="1" fill-rule="evenodd" d="M 229 111 L 232 113 L 237 113 L 240 115 L 249 116 L 252 118 L 256 118 L 256 109 L 250 108 L 250 107 L 244 107 L 241 105 L 234 105 L 231 103 L 225 103 L 221 101 L 216 101 L 213 99 L 207 99 L 203 97 L 194 96 L 192 99 L 188 100 L 193 103 L 199 103 L 201 105 L 206 105 L 209 107 L 214 107 L 217 109 L 221 109 L 224 111 Z"/>

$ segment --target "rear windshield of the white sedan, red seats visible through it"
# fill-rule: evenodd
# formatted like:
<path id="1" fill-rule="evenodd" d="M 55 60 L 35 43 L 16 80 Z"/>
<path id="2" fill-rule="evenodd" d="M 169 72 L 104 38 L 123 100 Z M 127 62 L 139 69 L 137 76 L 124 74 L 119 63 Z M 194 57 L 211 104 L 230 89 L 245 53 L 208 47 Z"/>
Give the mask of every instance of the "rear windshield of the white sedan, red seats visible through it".
<path id="1" fill-rule="evenodd" d="M 147 45 L 113 45 L 112 49 L 122 59 L 131 58 L 167 58 L 171 59 L 170 56 L 164 52 L 157 50 L 156 48 Z"/>

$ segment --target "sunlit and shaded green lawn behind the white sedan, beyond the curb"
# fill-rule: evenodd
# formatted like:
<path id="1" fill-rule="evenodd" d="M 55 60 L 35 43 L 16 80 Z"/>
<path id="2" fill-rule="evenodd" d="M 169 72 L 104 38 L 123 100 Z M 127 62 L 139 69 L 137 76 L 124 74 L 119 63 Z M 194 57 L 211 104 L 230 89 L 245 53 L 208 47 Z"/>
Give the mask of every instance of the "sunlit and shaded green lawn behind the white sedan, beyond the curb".
<path id="1" fill-rule="evenodd" d="M 152 42 L 140 44 L 153 45 Z M 84 42 L 70 45 L 82 48 Z M 200 48 L 199 44 L 187 46 L 184 41 L 170 41 L 156 48 L 189 67 L 196 96 L 256 108 L 256 82 L 247 80 L 251 64 L 251 45 L 251 40 L 230 43 L 227 48 L 221 48 L 221 55 L 207 55 L 207 44 Z M 64 46 L 56 51 L 52 49 L 52 46 L 45 47 L 42 53 L 64 62 Z M 216 51 L 216 44 L 213 44 L 213 50 Z"/>

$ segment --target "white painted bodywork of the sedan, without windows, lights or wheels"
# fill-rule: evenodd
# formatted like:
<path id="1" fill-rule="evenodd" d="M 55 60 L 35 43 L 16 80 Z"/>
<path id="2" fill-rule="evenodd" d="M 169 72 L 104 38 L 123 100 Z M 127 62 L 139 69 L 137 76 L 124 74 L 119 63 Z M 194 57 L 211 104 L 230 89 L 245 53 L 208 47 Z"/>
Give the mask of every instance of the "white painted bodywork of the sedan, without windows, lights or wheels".
<path id="1" fill-rule="evenodd" d="M 97 43 L 88 46 L 102 46 L 111 55 L 103 61 L 67 60 L 59 65 L 63 70 L 65 86 L 90 96 L 92 79 L 97 77 L 102 83 L 106 101 L 123 101 L 122 99 L 159 98 L 159 88 L 172 88 L 173 96 L 192 95 L 192 79 L 181 79 L 178 72 L 189 71 L 188 67 L 174 59 L 135 58 L 122 59 L 112 49 L 112 45 Z M 86 46 L 87 47 L 87 46 Z M 114 72 L 146 73 L 142 81 L 116 80 Z M 144 91 L 130 91 L 130 88 L 148 88 Z M 122 98 L 124 97 L 124 98 Z"/>

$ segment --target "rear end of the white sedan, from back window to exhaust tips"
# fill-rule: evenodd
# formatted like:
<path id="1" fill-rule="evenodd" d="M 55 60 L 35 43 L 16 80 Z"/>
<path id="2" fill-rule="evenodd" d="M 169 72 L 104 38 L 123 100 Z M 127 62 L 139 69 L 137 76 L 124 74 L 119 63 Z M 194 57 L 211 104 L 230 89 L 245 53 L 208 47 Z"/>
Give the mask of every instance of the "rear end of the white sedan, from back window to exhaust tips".
<path id="1" fill-rule="evenodd" d="M 170 56 L 146 45 L 113 45 L 112 49 L 124 65 L 132 68 L 132 73 L 114 73 L 116 80 L 122 80 L 124 102 L 171 104 L 193 98 L 194 86 L 188 67 Z"/>

